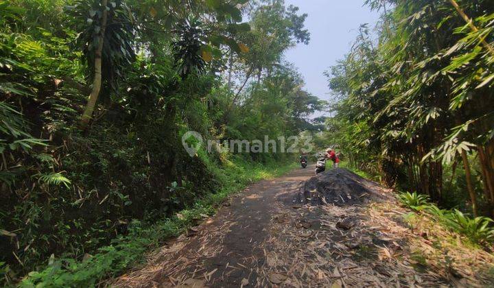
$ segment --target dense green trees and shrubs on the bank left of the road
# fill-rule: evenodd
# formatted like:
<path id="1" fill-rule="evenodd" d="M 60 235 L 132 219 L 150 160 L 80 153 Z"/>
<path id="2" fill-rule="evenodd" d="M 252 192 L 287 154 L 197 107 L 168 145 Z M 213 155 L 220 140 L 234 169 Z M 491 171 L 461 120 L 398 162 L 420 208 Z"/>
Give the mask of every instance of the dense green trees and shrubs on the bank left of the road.
<path id="1" fill-rule="evenodd" d="M 322 102 L 282 57 L 305 17 L 282 0 L 0 1 L 1 281 L 97 283 L 285 167 L 191 157 L 181 137 L 315 129 Z"/>

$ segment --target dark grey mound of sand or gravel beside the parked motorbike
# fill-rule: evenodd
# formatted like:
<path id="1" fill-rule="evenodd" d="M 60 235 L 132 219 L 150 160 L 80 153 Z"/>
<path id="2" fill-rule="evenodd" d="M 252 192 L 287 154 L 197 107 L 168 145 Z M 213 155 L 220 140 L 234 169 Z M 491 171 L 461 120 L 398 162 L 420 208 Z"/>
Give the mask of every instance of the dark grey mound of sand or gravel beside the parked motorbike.
<path id="1" fill-rule="evenodd" d="M 301 183 L 296 204 L 367 204 L 390 200 L 389 190 L 346 169 L 331 169 Z"/>

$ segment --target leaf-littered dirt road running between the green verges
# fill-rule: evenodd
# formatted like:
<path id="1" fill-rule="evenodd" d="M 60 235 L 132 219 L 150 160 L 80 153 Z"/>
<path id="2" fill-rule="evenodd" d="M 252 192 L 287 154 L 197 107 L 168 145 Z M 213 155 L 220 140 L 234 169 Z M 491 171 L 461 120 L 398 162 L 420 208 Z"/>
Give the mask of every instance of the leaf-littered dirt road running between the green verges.
<path id="1" fill-rule="evenodd" d="M 458 268 L 451 278 L 447 267 L 421 267 L 419 260 L 410 260 L 422 245 L 410 239 L 422 243 L 421 237 L 403 223 L 406 211 L 395 203 L 294 203 L 300 183 L 313 173 L 310 168 L 296 169 L 253 184 L 217 215 L 152 254 L 145 267 L 113 285 L 336 288 L 489 283 L 489 276 L 477 271 L 463 273 Z"/>

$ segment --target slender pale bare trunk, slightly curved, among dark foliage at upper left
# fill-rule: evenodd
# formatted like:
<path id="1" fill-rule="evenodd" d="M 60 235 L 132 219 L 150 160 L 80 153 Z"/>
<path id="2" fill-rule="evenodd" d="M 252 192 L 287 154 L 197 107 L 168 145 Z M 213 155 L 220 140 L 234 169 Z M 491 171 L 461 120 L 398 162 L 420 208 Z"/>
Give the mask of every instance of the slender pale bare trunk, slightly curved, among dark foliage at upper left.
<path id="1" fill-rule="evenodd" d="M 99 91 L 101 91 L 102 86 L 102 51 L 103 51 L 103 43 L 104 36 L 106 30 L 106 21 L 108 18 L 108 0 L 102 0 L 102 22 L 101 22 L 101 30 L 99 31 L 98 37 L 98 46 L 95 51 L 95 67 L 94 67 L 94 79 L 93 79 L 93 91 L 89 95 L 88 103 L 86 104 L 86 109 L 84 109 L 84 114 L 82 115 L 81 125 L 83 128 L 86 128 L 89 120 L 93 117 L 93 111 L 96 106 L 96 101 L 99 96 Z"/>

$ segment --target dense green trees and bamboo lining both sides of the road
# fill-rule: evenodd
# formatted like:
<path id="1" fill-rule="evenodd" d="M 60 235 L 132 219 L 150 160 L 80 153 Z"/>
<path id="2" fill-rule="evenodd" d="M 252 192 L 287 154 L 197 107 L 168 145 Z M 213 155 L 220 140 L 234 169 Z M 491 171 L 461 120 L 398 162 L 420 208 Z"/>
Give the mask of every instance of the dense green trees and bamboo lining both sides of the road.
<path id="1" fill-rule="evenodd" d="M 293 162 L 190 156 L 189 131 L 311 135 L 410 191 L 412 213 L 492 243 L 492 0 L 364 3 L 381 21 L 325 73 L 331 117 L 309 121 L 327 105 L 283 59 L 310 40 L 283 0 L 0 0 L 0 284 L 97 285 Z"/>

